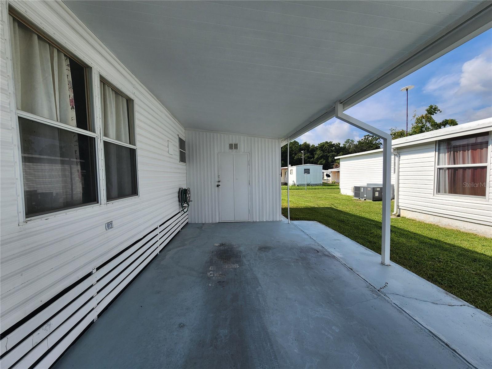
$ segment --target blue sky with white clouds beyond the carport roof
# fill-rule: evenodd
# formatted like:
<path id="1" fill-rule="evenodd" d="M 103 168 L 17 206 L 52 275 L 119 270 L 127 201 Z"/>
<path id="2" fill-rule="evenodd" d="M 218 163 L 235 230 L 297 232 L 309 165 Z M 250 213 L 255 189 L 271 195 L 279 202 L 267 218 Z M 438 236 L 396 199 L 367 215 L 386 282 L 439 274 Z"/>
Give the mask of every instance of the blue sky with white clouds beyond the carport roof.
<path id="1" fill-rule="evenodd" d="M 385 131 L 391 127 L 405 128 L 406 95 L 400 89 L 408 85 L 415 85 L 408 92 L 409 127 L 413 112 L 423 114 L 431 104 L 442 110 L 435 116 L 437 121 L 454 118 L 461 124 L 492 117 L 492 30 L 372 95 L 346 113 Z M 315 145 L 323 141 L 343 143 L 347 138 L 357 141 L 365 134 L 333 118 L 297 141 Z"/>

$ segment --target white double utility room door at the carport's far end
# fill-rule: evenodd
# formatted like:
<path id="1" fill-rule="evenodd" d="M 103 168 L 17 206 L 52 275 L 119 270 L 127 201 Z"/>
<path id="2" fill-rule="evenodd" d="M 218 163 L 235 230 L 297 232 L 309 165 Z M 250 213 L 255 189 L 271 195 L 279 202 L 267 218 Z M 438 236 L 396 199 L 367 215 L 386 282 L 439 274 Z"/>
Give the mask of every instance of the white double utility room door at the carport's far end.
<path id="1" fill-rule="evenodd" d="M 249 154 L 218 154 L 219 221 L 249 220 Z"/>

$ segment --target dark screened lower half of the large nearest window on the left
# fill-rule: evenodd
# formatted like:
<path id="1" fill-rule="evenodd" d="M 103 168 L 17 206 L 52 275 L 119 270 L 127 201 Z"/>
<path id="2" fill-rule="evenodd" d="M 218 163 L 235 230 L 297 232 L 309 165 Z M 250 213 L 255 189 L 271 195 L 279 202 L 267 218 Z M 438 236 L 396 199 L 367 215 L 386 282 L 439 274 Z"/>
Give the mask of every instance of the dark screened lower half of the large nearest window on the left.
<path id="1" fill-rule="evenodd" d="M 19 118 L 26 216 L 97 202 L 95 138 Z"/>

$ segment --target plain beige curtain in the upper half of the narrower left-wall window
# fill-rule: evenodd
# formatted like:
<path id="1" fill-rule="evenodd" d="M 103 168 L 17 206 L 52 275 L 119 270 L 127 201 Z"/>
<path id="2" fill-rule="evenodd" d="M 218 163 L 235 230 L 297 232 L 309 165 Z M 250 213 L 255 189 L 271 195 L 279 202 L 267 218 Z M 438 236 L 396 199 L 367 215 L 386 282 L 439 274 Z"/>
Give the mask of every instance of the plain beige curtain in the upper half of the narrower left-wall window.
<path id="1" fill-rule="evenodd" d="M 128 124 L 128 100 L 101 82 L 101 109 L 104 136 L 130 143 Z"/>

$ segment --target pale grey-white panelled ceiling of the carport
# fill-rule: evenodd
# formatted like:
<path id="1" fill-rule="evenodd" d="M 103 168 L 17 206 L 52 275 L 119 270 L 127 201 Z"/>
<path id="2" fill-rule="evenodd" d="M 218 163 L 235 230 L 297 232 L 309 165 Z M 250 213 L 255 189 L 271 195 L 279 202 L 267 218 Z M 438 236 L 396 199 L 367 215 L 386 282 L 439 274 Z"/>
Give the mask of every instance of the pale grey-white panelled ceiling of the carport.
<path id="1" fill-rule="evenodd" d="M 184 127 L 279 138 L 299 133 L 336 100 L 484 6 L 481 1 L 65 4 Z M 366 89 L 365 95 L 378 89 Z"/>

